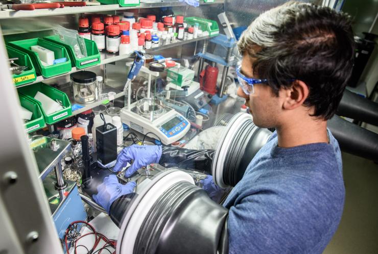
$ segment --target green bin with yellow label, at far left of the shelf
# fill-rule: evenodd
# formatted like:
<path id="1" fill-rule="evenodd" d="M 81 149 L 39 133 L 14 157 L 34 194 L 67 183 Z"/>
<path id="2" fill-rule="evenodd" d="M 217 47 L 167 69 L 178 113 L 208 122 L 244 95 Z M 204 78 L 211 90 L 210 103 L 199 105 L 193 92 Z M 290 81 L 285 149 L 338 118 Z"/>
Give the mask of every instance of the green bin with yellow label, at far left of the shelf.
<path id="1" fill-rule="evenodd" d="M 8 45 L 6 48 L 9 58 L 18 57 L 18 60 L 15 61 L 16 64 L 20 66 L 28 66 L 28 68 L 22 71 L 21 74 L 12 75 L 14 85 L 19 86 L 34 82 L 37 79 L 37 74 L 35 73 L 35 69 L 29 55 Z"/>

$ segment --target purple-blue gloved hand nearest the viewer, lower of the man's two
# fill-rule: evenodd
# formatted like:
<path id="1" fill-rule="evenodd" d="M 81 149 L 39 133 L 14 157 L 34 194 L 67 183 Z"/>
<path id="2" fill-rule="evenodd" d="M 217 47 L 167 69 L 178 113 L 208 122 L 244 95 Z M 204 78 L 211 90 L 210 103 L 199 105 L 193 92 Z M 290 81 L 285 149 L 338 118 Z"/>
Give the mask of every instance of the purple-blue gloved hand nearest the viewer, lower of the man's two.
<path id="1" fill-rule="evenodd" d="M 135 188 L 135 182 L 129 182 L 126 185 L 120 184 L 117 177 L 111 174 L 104 178 L 102 184 L 97 187 L 97 194 L 93 195 L 93 199 L 97 204 L 102 206 L 108 213 L 110 206 L 114 200 L 133 192 Z"/>

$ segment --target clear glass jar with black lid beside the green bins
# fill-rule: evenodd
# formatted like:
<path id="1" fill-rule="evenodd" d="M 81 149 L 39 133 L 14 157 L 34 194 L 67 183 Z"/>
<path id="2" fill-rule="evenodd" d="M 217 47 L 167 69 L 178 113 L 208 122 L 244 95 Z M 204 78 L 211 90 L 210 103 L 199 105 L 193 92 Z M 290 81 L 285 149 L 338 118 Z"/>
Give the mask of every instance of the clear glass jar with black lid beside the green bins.
<path id="1" fill-rule="evenodd" d="M 70 78 L 77 103 L 86 104 L 96 100 L 97 83 L 95 72 L 78 71 L 70 74 Z"/>

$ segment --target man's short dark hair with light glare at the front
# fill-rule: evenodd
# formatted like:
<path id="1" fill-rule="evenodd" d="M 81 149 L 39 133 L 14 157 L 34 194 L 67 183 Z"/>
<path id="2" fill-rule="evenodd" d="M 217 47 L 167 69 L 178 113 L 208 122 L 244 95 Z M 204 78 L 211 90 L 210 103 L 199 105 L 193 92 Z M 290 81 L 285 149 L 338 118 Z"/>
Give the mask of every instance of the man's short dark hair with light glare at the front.
<path id="1" fill-rule="evenodd" d="M 353 66 L 350 16 L 289 2 L 257 17 L 238 46 L 255 59 L 254 73 L 268 79 L 276 95 L 292 86 L 290 80 L 300 80 L 309 87 L 304 105 L 315 107 L 312 116 L 327 120 L 334 115 Z"/>

